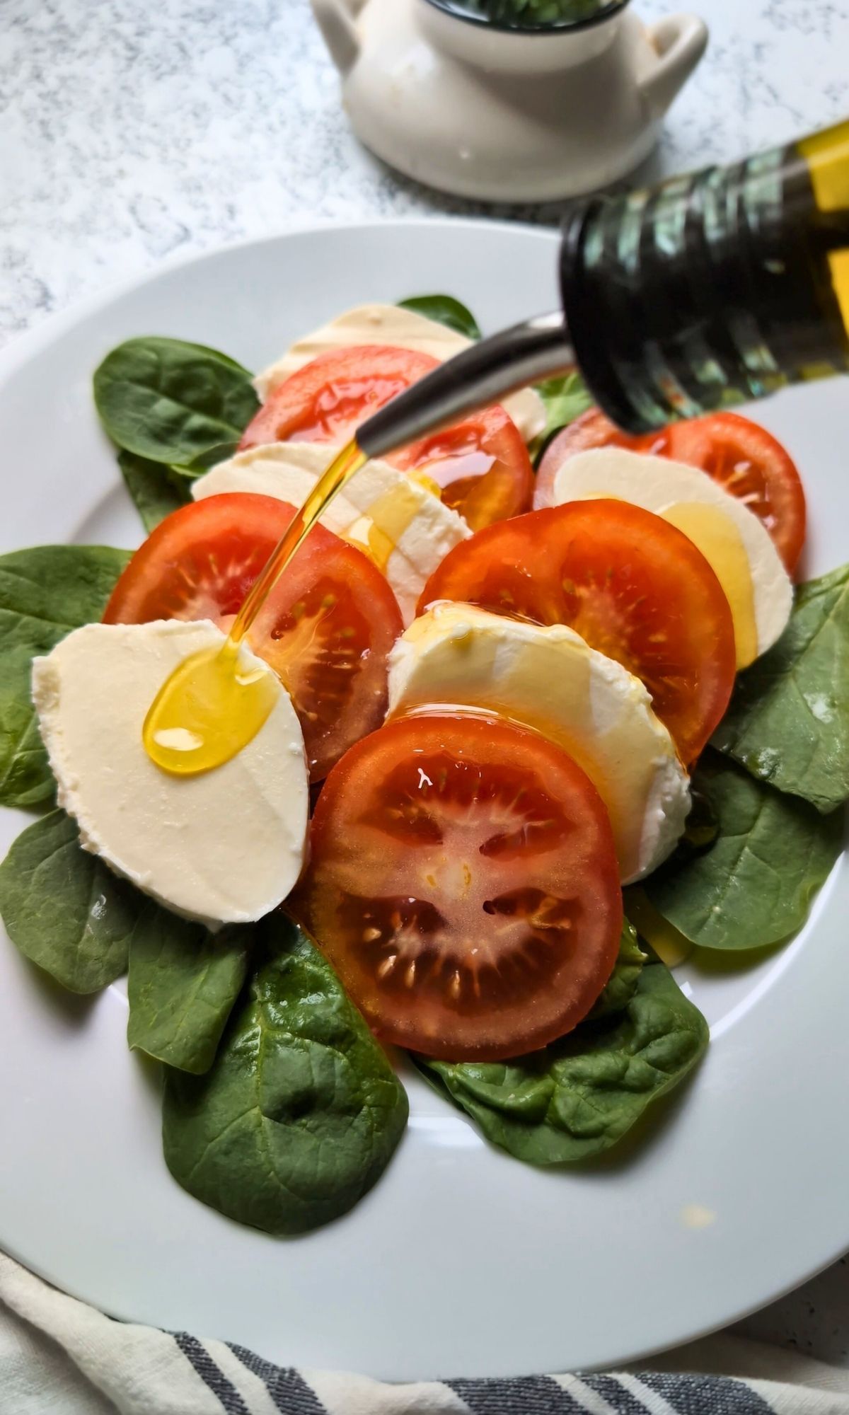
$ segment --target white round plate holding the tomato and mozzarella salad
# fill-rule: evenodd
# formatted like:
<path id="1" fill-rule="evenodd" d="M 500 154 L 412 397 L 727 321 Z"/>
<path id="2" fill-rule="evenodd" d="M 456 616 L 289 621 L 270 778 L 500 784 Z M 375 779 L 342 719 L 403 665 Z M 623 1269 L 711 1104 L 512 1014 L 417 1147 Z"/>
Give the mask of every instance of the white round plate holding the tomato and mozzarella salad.
<path id="1" fill-rule="evenodd" d="M 515 225 L 317 229 L 54 318 L 0 355 L 1 549 L 142 539 L 91 400 L 92 369 L 120 340 L 177 335 L 258 369 L 347 306 L 427 291 L 494 330 L 555 307 L 555 256 L 552 232 Z M 757 410 L 802 468 L 808 573 L 849 558 L 848 412 L 842 381 Z M 0 812 L 0 853 L 25 824 Z M 405 1073 L 410 1124 L 386 1174 L 294 1241 L 238 1227 L 170 1179 L 158 1081 L 127 1053 L 123 989 L 71 999 L 3 940 L 0 1245 L 115 1316 L 391 1380 L 586 1368 L 686 1340 L 849 1247 L 848 914 L 838 866 L 791 944 L 754 966 L 678 974 L 712 1046 L 640 1146 L 533 1170 Z"/>

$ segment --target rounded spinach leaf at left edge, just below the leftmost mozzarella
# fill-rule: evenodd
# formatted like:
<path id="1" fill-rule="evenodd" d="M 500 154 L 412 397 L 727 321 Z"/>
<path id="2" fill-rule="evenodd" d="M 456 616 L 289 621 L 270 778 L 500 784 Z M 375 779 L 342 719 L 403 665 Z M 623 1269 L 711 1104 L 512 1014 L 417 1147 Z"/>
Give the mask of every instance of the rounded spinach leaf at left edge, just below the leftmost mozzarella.
<path id="1" fill-rule="evenodd" d="M 13 944 L 71 992 L 98 992 L 127 966 L 137 891 L 79 845 L 64 811 L 18 835 L 0 865 L 0 914 Z"/>

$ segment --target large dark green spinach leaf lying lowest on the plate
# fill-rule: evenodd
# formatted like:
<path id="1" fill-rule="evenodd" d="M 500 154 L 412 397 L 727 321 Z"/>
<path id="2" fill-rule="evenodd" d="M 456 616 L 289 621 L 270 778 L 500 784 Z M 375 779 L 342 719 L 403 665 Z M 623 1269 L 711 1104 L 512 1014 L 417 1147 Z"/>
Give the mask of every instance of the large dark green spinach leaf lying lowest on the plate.
<path id="1" fill-rule="evenodd" d="M 239 1223 L 297 1234 L 344 1214 L 400 1139 L 408 1102 L 335 974 L 273 914 L 263 961 L 202 1077 L 166 1071 L 174 1179 Z"/>

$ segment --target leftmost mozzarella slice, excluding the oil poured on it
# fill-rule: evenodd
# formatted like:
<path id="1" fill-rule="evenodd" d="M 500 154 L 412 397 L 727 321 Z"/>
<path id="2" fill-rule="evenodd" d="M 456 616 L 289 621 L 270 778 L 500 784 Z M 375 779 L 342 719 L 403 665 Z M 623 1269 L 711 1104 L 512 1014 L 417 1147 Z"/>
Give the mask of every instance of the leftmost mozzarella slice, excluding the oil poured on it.
<path id="1" fill-rule="evenodd" d="M 168 674 L 222 642 L 205 620 L 86 624 L 33 662 L 57 798 L 83 848 L 209 928 L 262 918 L 286 899 L 304 865 L 310 809 L 304 740 L 283 686 L 256 737 L 214 771 L 173 777 L 144 751 L 142 724 Z"/>

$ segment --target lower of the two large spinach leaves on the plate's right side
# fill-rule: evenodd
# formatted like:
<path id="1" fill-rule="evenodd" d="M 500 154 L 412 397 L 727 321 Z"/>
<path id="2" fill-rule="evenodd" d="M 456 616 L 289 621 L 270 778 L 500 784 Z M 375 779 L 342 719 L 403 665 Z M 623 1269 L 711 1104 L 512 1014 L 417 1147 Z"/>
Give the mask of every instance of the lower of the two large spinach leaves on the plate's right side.
<path id="1" fill-rule="evenodd" d="M 842 849 L 842 812 L 819 815 L 708 751 L 693 784 L 717 833 L 644 880 L 654 907 L 702 948 L 767 948 L 792 934 Z"/>

